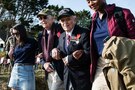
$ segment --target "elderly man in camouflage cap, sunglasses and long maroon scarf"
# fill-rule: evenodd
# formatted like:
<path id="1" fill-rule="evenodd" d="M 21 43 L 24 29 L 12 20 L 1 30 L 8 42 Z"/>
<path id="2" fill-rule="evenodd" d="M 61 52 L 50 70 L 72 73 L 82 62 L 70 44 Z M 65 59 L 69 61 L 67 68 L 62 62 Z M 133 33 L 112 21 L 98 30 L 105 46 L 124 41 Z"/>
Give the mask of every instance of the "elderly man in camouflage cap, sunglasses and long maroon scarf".
<path id="1" fill-rule="evenodd" d="M 64 90 L 62 81 L 64 64 L 62 60 L 54 60 L 50 55 L 51 50 L 57 47 L 58 38 L 63 30 L 60 25 L 54 23 L 53 14 L 48 9 L 41 10 L 37 17 L 44 28 L 39 34 L 41 53 L 37 57 L 43 58 L 42 65 L 46 71 L 48 88 L 49 90 Z"/>

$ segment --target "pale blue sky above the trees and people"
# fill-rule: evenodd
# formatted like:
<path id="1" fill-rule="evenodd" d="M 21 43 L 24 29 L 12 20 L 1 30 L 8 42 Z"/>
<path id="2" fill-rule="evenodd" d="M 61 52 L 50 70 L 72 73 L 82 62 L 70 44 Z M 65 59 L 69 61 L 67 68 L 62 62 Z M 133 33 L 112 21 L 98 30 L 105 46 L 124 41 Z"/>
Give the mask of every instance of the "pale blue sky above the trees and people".
<path id="1" fill-rule="evenodd" d="M 59 5 L 65 8 L 71 8 L 74 11 L 90 10 L 86 0 L 48 0 L 49 5 Z M 117 6 L 128 8 L 135 16 L 134 0 L 106 0 L 108 4 L 115 3 Z M 91 10 L 90 10 L 91 11 Z M 93 13 L 93 11 L 91 11 Z"/>

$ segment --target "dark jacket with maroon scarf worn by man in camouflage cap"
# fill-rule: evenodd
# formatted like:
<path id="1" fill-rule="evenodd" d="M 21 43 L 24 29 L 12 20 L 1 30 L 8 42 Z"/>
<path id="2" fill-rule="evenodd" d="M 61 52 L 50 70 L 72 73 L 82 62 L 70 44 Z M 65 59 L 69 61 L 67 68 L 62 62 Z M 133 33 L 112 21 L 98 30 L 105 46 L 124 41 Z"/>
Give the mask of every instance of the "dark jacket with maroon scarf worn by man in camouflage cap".
<path id="1" fill-rule="evenodd" d="M 51 57 L 51 50 L 53 48 L 57 47 L 58 39 L 60 37 L 60 34 L 63 32 L 63 29 L 60 27 L 59 24 L 53 23 L 52 27 L 51 27 L 51 32 L 48 36 L 47 45 L 46 45 L 46 43 L 44 43 L 45 46 L 43 45 L 43 42 L 42 42 L 43 37 L 45 37 L 45 35 L 43 35 L 44 31 L 46 31 L 46 30 L 43 30 L 38 36 L 38 41 L 40 43 L 39 44 L 39 50 L 40 50 L 40 52 L 43 52 L 43 54 L 44 54 L 42 64 L 44 64 L 45 62 L 52 63 L 52 65 L 55 68 L 55 70 L 57 71 L 60 79 L 63 80 L 64 64 L 63 64 L 62 60 L 54 60 Z M 47 72 L 46 72 L 46 74 L 47 74 Z"/>

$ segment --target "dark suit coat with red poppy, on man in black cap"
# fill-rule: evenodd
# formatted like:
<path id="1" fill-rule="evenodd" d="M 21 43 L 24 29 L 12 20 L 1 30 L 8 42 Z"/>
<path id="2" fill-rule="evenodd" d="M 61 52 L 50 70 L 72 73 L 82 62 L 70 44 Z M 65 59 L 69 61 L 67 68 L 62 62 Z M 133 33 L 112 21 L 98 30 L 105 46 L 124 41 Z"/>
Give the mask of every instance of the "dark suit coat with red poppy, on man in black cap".
<path id="1" fill-rule="evenodd" d="M 68 45 L 68 50 L 65 49 L 65 38 L 66 33 L 62 33 L 59 39 L 58 49 L 60 50 L 61 56 L 64 58 L 68 56 L 68 65 L 64 69 L 64 84 L 65 90 L 69 88 L 69 81 L 75 90 L 90 90 L 90 55 L 89 55 L 89 31 L 79 26 L 75 26 L 73 29 L 72 37 L 80 35 L 79 42 L 71 41 Z M 76 60 L 72 53 L 76 50 L 84 50 L 82 57 Z"/>

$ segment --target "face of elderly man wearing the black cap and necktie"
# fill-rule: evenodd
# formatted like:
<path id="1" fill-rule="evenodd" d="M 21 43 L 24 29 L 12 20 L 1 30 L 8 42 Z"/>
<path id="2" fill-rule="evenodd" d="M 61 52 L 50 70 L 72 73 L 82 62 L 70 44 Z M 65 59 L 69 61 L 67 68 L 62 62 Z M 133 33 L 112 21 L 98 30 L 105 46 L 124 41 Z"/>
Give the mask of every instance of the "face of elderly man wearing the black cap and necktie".
<path id="1" fill-rule="evenodd" d="M 76 16 L 63 16 L 59 22 L 66 32 L 70 32 L 76 24 Z"/>

